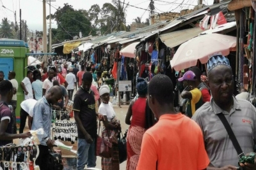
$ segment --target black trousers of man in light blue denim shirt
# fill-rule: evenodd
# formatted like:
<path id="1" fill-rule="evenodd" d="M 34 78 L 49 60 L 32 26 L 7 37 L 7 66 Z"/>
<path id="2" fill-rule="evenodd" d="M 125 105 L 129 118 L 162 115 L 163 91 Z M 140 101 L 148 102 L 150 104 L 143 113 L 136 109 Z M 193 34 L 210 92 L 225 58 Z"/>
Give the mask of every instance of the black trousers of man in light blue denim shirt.
<path id="1" fill-rule="evenodd" d="M 40 170 L 48 170 L 48 157 L 50 155 L 48 146 L 38 145 L 39 155 L 36 159 L 36 165 L 40 167 Z"/>

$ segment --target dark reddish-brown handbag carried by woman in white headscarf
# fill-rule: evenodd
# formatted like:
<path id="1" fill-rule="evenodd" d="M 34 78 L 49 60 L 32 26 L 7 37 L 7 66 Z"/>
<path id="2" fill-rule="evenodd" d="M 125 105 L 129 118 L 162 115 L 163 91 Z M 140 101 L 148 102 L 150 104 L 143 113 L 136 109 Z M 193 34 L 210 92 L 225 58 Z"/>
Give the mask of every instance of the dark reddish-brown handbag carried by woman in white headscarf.
<path id="1" fill-rule="evenodd" d="M 96 147 L 95 147 L 95 155 L 103 158 L 111 158 L 112 157 L 112 143 L 108 140 L 99 136 L 100 133 L 100 122 L 99 122 L 99 131 L 96 139 Z M 108 134 L 109 138 L 109 134 Z"/>

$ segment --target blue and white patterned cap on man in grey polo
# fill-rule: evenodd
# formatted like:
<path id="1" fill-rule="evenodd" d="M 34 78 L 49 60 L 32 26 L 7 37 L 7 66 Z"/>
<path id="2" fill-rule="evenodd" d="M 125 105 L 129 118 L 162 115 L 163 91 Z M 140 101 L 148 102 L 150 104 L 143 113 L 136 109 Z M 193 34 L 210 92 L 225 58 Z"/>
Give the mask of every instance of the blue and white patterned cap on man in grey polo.
<path id="1" fill-rule="evenodd" d="M 213 69 L 214 67 L 218 65 L 225 65 L 231 68 L 229 64 L 229 60 L 220 54 L 212 55 L 209 60 L 207 61 L 207 71 L 208 73 Z"/>

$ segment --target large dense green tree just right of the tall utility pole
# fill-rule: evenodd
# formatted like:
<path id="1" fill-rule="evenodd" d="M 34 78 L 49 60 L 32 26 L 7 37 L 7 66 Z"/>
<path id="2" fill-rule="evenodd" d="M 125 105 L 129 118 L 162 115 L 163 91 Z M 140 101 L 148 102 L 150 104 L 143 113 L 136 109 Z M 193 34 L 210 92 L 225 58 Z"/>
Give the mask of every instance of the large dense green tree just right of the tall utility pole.
<path id="1" fill-rule="evenodd" d="M 56 41 L 64 41 L 65 39 L 73 39 L 74 36 L 79 36 L 79 32 L 82 35 L 88 36 L 95 34 L 95 29 L 92 27 L 90 20 L 84 15 L 82 10 L 74 10 L 73 6 L 65 3 L 62 8 L 52 15 L 52 19 L 57 22 L 57 29 L 52 29 L 52 44 Z M 47 16 L 47 19 L 49 15 Z M 58 39 L 58 40 L 56 40 Z"/>

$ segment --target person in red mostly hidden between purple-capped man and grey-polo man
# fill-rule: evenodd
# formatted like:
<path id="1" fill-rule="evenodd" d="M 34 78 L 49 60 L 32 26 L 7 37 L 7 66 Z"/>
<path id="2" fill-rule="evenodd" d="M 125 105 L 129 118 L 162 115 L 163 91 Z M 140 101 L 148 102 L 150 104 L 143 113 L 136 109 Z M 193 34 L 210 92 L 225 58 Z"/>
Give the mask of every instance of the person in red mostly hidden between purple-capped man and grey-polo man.
<path id="1" fill-rule="evenodd" d="M 211 94 L 209 93 L 207 85 L 201 81 L 202 71 L 200 71 L 200 69 L 196 66 L 190 67 L 188 70 L 193 71 L 193 73 L 196 75 L 195 87 L 201 91 L 203 103 L 209 102 L 211 100 Z"/>

